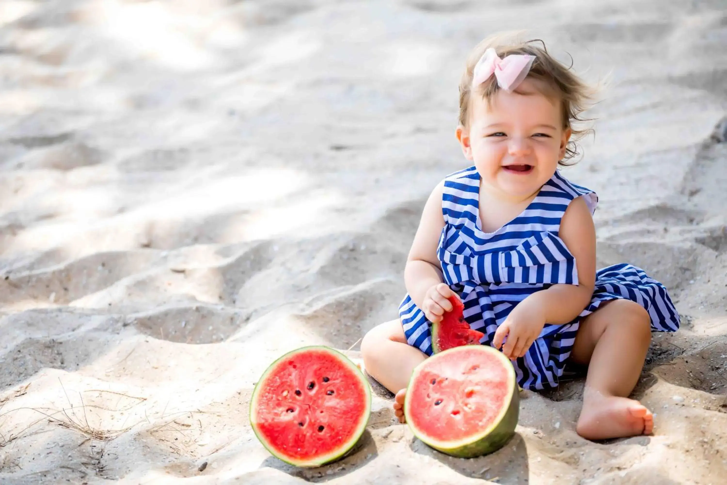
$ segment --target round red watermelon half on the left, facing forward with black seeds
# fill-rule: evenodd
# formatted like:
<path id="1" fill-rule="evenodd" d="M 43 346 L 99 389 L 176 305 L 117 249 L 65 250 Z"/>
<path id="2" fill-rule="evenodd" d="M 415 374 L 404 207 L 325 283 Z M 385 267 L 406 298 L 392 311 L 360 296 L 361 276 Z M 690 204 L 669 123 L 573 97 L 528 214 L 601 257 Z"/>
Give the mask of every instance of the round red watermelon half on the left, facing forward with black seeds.
<path id="1" fill-rule="evenodd" d="M 286 353 L 255 385 L 250 423 L 268 451 L 298 467 L 345 455 L 366 429 L 369 382 L 337 350 L 304 347 Z"/>

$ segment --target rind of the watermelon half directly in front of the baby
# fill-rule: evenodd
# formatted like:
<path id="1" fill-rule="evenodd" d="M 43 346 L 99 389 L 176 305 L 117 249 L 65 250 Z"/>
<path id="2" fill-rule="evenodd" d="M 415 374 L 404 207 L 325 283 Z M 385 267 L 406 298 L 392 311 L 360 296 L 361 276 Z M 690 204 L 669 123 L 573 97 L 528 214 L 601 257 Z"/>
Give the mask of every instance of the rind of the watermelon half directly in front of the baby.
<path id="1" fill-rule="evenodd" d="M 464 438 L 459 441 L 435 440 L 434 438 L 427 436 L 427 433 L 424 430 L 421 430 L 411 424 L 410 393 L 407 392 L 406 398 L 404 399 L 404 416 L 406 416 L 406 422 L 409 424 L 409 428 L 411 429 L 411 432 L 414 433 L 414 436 L 419 438 L 419 440 L 423 443 L 427 444 L 427 446 L 430 446 L 439 452 L 458 458 L 474 458 L 480 457 L 483 454 L 497 452 L 498 449 L 505 446 L 507 441 L 510 441 L 510 438 L 515 435 L 515 428 L 518 425 L 518 417 L 520 414 L 520 394 L 518 392 L 519 389 L 516 383 L 517 380 L 515 378 L 515 369 L 513 369 L 513 364 L 497 349 L 486 345 L 463 345 L 461 347 L 443 350 L 443 352 L 436 353 L 434 356 L 427 358 L 427 360 L 423 361 L 414 369 L 414 372 L 411 373 L 411 377 L 409 378 L 409 386 L 411 386 L 417 378 L 417 374 L 419 374 L 422 369 L 425 369 L 426 364 L 430 362 L 431 359 L 446 358 L 450 353 L 456 353 L 465 349 L 472 350 L 473 348 L 481 350 L 482 352 L 489 352 L 494 353 L 493 355 L 497 355 L 497 358 L 502 362 L 502 365 L 505 366 L 507 374 L 510 376 L 510 379 L 507 380 L 511 388 L 510 401 L 502 406 L 500 414 L 488 428 L 470 436 L 469 438 Z"/>

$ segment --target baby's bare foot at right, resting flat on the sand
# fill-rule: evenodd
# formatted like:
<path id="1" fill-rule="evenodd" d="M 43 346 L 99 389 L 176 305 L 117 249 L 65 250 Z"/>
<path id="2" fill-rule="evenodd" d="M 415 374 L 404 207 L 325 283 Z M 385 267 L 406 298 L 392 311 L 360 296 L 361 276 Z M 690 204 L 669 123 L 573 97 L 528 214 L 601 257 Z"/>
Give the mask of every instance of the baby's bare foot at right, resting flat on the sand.
<path id="1" fill-rule="evenodd" d="M 592 440 L 648 435 L 653 430 L 654 414 L 639 401 L 603 396 L 598 391 L 584 396 L 576 425 L 580 436 Z"/>

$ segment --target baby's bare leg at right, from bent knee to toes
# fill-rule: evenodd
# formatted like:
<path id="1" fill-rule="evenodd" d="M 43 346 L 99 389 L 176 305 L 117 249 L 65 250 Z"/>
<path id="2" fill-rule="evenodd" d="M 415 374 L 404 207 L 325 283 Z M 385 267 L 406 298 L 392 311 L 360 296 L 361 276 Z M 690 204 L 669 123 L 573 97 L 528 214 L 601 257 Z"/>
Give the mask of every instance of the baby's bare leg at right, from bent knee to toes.
<path id="1" fill-rule="evenodd" d="M 576 431 L 587 439 L 651 434 L 654 416 L 627 398 L 651 342 L 651 319 L 630 300 L 611 300 L 581 322 L 571 358 L 588 365 Z"/>

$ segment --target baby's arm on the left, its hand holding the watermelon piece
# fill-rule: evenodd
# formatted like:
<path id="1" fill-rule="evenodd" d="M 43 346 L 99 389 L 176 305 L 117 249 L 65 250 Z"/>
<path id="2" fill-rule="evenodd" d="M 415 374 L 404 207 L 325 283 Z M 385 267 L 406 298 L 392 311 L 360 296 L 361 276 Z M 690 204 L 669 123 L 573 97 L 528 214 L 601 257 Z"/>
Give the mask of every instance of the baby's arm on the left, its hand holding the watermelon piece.
<path id="1" fill-rule="evenodd" d="M 447 298 L 454 294 L 443 283 L 444 278 L 437 259 L 437 247 L 444 227 L 443 188 L 444 183 L 439 183 L 427 199 L 404 268 L 406 291 L 429 321 L 440 321 L 445 311 L 451 311 L 451 303 Z"/>

